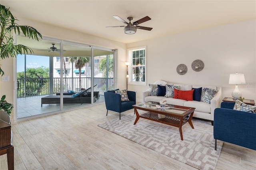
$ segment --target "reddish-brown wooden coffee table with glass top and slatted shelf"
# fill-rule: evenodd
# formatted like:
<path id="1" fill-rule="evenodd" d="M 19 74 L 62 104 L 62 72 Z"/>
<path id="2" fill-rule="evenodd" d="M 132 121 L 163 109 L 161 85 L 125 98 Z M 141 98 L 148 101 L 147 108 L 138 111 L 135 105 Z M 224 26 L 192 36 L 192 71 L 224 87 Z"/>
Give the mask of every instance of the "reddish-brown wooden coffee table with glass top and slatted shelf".
<path id="1" fill-rule="evenodd" d="M 150 101 L 146 103 L 140 103 L 138 105 L 133 105 L 134 111 L 136 113 L 136 120 L 134 122 L 134 125 L 136 125 L 136 123 L 141 117 L 151 121 L 156 121 L 156 122 L 164 123 L 174 127 L 178 127 L 180 130 L 181 140 L 183 140 L 182 126 L 185 123 L 188 122 L 189 125 L 192 128 L 194 128 L 191 120 L 192 120 L 195 108 L 177 106 L 177 105 L 168 105 L 168 107 L 170 107 L 168 109 L 158 109 L 156 105 L 160 105 L 160 104 L 157 102 Z M 148 112 L 139 115 L 137 109 L 148 111 Z"/>

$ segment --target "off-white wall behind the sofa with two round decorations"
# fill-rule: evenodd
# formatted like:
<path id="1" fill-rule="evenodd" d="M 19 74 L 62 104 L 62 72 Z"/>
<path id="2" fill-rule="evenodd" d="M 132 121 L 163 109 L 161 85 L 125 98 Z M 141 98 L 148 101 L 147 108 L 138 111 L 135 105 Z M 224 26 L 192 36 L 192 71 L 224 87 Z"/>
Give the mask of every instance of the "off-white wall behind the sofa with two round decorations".
<path id="1" fill-rule="evenodd" d="M 154 31 L 154 29 L 152 30 Z M 222 98 L 231 97 L 235 85 L 229 85 L 230 73 L 244 73 L 247 85 L 238 85 L 245 99 L 256 101 L 256 20 L 186 32 L 163 38 L 129 43 L 127 48 L 147 46 L 147 85 L 128 85 L 142 91 L 161 79 L 192 85 L 222 86 Z M 195 72 L 191 63 L 200 59 L 204 69 Z M 185 64 L 188 72 L 179 75 L 176 67 Z"/>

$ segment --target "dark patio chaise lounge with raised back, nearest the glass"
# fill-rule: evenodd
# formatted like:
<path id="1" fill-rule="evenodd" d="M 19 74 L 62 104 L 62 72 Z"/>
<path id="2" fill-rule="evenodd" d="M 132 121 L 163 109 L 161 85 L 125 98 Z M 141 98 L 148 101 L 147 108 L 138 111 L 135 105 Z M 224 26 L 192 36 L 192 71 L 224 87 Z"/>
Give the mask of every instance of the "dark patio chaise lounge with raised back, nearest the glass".
<path id="1" fill-rule="evenodd" d="M 91 103 L 91 95 L 84 95 L 88 90 L 90 90 L 91 87 L 88 89 L 81 91 L 77 95 L 63 95 L 63 103 Z M 96 96 L 93 96 L 94 102 L 96 101 Z M 49 95 L 46 97 L 41 98 L 41 107 L 43 104 L 60 104 L 60 95 Z"/>

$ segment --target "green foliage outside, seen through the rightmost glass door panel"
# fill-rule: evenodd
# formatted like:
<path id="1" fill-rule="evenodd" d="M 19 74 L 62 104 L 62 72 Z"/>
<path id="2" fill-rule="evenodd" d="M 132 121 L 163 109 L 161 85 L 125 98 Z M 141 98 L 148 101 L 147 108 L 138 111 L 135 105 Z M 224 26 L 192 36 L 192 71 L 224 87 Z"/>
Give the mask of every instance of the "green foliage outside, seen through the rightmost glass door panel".
<path id="1" fill-rule="evenodd" d="M 100 60 L 99 71 L 102 72 L 102 77 L 107 77 L 107 58 Z M 113 78 L 114 61 L 113 57 L 108 57 L 108 78 Z"/>

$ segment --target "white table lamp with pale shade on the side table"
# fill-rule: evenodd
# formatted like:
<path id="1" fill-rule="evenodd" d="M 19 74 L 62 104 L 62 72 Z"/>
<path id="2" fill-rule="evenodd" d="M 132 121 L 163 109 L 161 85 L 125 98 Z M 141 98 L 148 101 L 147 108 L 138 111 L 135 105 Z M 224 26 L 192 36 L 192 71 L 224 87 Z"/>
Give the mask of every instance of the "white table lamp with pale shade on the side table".
<path id="1" fill-rule="evenodd" d="M 232 97 L 234 100 L 238 99 L 239 97 L 242 97 L 242 93 L 238 89 L 238 85 L 245 84 L 244 74 L 242 73 L 230 74 L 228 84 L 236 85 L 236 88 L 232 92 Z"/>

